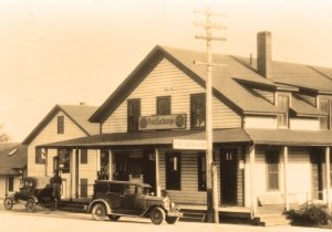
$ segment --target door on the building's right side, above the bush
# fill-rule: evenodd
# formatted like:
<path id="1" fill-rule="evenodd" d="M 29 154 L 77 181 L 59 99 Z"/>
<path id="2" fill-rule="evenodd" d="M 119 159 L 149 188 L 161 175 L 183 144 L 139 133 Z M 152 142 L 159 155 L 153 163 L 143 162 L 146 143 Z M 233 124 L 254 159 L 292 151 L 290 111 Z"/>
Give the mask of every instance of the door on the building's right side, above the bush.
<path id="1" fill-rule="evenodd" d="M 312 200 L 323 199 L 323 154 L 319 149 L 311 150 L 311 192 Z"/>

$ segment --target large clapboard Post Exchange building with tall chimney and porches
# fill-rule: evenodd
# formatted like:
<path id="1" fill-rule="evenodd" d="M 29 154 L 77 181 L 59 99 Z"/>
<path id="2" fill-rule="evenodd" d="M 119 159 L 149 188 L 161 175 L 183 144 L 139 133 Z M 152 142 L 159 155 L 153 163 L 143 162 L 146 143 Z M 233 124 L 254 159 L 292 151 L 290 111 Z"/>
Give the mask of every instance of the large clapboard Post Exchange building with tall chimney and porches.
<path id="1" fill-rule="evenodd" d="M 205 59 L 157 45 L 90 118 L 101 135 L 41 147 L 89 149 L 104 160 L 97 168 L 106 178 L 206 204 L 205 151 L 183 140 L 205 139 L 206 67 L 193 62 Z M 272 61 L 269 32 L 258 34 L 257 60 L 214 54 L 214 61 L 227 64 L 212 74 L 219 205 L 256 213 L 258 205 L 329 202 L 332 68 Z"/>

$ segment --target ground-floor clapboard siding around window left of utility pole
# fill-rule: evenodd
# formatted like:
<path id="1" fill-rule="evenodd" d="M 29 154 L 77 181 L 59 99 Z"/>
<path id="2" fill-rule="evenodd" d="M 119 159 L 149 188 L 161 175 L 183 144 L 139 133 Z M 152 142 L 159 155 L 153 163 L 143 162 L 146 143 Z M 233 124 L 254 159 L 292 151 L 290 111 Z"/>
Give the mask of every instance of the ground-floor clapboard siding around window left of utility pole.
<path id="1" fill-rule="evenodd" d="M 162 190 L 166 190 L 169 198 L 177 203 L 206 203 L 206 191 L 198 191 L 197 151 L 180 151 L 181 159 L 181 188 L 180 190 L 166 189 L 166 152 L 159 151 L 159 180 Z M 178 151 L 177 151 L 178 152 Z M 217 158 L 217 157 L 216 157 Z M 219 158 L 216 160 L 219 164 Z M 218 179 L 220 170 L 218 166 Z M 218 183 L 218 200 L 220 197 L 220 183 Z"/>

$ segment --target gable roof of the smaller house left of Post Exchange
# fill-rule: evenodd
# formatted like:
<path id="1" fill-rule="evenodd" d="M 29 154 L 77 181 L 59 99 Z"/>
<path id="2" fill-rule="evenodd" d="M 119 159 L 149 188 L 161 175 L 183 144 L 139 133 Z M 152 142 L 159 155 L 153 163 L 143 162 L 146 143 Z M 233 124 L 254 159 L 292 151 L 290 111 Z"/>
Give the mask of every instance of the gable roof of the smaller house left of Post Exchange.
<path id="1" fill-rule="evenodd" d="M 89 122 L 90 116 L 96 109 L 96 106 L 55 105 L 49 112 L 49 114 L 37 125 L 37 127 L 28 135 L 22 144 L 29 145 L 59 112 L 63 112 L 87 136 L 96 135 L 100 133 L 98 124 Z"/>

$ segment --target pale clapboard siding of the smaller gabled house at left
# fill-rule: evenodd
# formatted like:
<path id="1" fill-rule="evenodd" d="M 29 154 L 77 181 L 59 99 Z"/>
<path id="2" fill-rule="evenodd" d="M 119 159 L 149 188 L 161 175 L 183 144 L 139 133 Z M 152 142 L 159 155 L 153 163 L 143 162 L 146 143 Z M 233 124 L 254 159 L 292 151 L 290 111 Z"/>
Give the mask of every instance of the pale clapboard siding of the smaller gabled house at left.
<path id="1" fill-rule="evenodd" d="M 64 134 L 58 134 L 58 116 L 64 116 Z M 86 136 L 66 115 L 59 112 L 28 146 L 28 176 L 44 176 L 44 165 L 35 164 L 35 146 Z M 48 175 L 52 175 L 53 155 L 49 155 Z"/>

